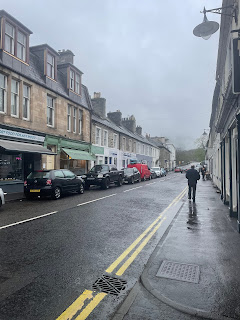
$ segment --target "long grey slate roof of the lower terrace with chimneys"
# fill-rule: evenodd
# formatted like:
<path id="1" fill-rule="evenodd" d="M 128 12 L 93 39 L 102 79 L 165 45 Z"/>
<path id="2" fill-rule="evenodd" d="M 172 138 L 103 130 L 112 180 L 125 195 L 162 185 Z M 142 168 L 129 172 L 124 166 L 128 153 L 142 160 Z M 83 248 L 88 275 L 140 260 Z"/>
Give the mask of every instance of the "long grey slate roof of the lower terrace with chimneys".
<path id="1" fill-rule="evenodd" d="M 139 142 L 144 142 L 148 145 L 151 145 L 153 147 L 158 147 L 158 145 L 154 142 L 154 141 L 149 141 L 147 138 L 145 138 L 142 135 L 139 135 L 138 133 L 133 133 L 131 131 L 129 131 L 127 128 L 125 128 L 124 126 L 118 126 L 116 125 L 113 121 L 111 121 L 109 118 L 102 118 L 96 114 L 92 115 L 92 120 L 98 123 L 101 123 L 102 125 L 111 128 L 119 133 L 125 134 L 126 136 L 129 136 L 135 140 L 138 140 Z"/>

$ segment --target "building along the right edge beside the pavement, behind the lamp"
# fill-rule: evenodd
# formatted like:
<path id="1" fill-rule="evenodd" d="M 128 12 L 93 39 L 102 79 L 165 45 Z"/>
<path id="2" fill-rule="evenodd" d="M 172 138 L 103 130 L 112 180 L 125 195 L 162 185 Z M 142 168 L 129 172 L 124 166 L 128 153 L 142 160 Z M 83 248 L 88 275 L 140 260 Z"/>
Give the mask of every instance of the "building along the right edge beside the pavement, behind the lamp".
<path id="1" fill-rule="evenodd" d="M 232 7 L 231 7 L 232 6 Z M 216 86 L 213 93 L 206 162 L 230 217 L 237 218 L 240 232 L 240 14 L 239 1 L 223 0 L 218 46 Z"/>

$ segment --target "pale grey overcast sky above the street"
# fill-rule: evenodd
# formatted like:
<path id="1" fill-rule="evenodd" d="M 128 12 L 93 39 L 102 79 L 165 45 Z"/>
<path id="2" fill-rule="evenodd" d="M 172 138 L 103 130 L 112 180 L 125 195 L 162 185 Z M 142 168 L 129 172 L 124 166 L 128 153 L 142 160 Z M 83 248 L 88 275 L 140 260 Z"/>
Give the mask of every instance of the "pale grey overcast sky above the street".
<path id="1" fill-rule="evenodd" d="M 219 31 L 193 36 L 202 11 L 220 0 L 3 0 L 32 30 L 30 45 L 70 49 L 91 95 L 107 112 L 133 114 L 143 133 L 190 149 L 208 128 Z M 219 21 L 216 14 L 209 20 Z"/>

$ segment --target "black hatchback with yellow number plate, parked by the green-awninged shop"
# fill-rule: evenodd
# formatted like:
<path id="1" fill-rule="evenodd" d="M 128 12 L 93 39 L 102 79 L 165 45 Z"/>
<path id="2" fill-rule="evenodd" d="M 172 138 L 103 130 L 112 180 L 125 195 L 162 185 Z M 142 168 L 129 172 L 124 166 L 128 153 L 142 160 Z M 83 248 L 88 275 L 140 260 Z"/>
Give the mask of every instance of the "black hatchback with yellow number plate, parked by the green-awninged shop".
<path id="1" fill-rule="evenodd" d="M 24 194 L 27 199 L 36 196 L 51 196 L 59 199 L 67 192 L 84 192 L 84 180 L 66 169 L 39 170 L 31 172 L 24 181 Z"/>

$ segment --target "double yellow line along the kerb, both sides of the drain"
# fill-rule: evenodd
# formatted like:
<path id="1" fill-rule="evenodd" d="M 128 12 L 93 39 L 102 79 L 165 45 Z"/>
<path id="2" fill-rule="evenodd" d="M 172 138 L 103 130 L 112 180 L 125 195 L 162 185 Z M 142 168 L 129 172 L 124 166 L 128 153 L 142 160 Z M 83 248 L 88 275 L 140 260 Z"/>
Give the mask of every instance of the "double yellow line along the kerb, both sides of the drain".
<path id="1" fill-rule="evenodd" d="M 153 237 L 153 235 L 160 228 L 166 217 L 163 217 L 167 210 L 180 201 L 185 195 L 187 187 L 163 210 L 159 217 L 105 270 L 108 273 L 113 272 L 119 264 L 129 255 L 129 253 L 142 241 L 132 255 L 124 262 L 118 269 L 116 275 L 121 276 L 131 263 L 136 259 L 138 254 L 142 251 L 145 245 Z M 96 308 L 96 306 L 106 296 L 106 293 L 85 290 L 56 320 L 85 320 L 89 314 Z"/>

